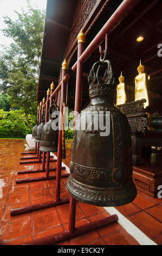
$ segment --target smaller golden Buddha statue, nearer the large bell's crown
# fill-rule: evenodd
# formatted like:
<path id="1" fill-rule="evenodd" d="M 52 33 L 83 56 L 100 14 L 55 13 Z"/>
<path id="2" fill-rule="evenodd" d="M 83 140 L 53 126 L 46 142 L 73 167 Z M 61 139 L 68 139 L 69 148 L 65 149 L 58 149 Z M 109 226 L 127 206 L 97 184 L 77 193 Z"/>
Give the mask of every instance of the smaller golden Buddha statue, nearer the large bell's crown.
<path id="1" fill-rule="evenodd" d="M 125 93 L 125 77 L 121 75 L 119 77 L 119 84 L 116 87 L 116 106 L 120 104 L 124 104 L 126 102 L 126 93 Z"/>

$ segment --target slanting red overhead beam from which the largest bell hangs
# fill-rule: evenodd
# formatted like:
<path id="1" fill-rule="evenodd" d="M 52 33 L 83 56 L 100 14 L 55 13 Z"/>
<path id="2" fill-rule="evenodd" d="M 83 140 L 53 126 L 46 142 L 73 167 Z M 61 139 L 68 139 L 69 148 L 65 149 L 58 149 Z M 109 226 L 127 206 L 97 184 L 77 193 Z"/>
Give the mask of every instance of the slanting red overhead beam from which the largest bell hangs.
<path id="1" fill-rule="evenodd" d="M 118 26 L 118 24 L 127 16 L 129 11 L 138 4 L 140 0 L 124 0 L 119 5 L 119 7 L 114 11 L 112 16 L 108 19 L 105 25 L 101 28 L 99 33 L 95 36 L 95 38 L 90 42 L 86 50 L 77 59 L 77 62 L 85 62 L 86 59 L 94 52 L 94 50 L 101 44 L 101 42 L 105 39 L 105 35 L 109 35 L 113 29 Z M 76 70 L 77 62 L 73 65 L 72 70 Z"/>

